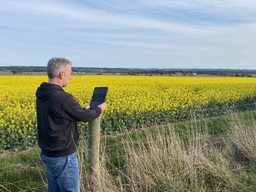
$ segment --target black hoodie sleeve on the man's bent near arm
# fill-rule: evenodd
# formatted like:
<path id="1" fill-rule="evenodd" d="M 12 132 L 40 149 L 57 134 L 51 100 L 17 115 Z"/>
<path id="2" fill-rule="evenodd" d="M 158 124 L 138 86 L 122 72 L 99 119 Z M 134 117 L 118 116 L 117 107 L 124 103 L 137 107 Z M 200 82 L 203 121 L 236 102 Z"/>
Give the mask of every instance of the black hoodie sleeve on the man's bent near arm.
<path id="1" fill-rule="evenodd" d="M 101 115 L 101 108 L 87 110 L 72 95 L 68 95 L 63 103 L 62 117 L 74 122 L 89 122 Z"/>

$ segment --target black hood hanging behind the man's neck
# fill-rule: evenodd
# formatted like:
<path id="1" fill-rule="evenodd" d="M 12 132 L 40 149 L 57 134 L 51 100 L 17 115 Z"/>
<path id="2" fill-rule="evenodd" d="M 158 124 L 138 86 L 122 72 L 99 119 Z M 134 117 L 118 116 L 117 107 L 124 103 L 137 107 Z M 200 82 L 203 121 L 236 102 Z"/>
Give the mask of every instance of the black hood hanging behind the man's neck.
<path id="1" fill-rule="evenodd" d="M 40 87 L 37 88 L 36 98 L 43 102 L 47 99 L 47 97 L 49 97 L 49 95 L 58 90 L 62 90 L 64 92 L 61 86 L 44 82 L 40 85 Z"/>

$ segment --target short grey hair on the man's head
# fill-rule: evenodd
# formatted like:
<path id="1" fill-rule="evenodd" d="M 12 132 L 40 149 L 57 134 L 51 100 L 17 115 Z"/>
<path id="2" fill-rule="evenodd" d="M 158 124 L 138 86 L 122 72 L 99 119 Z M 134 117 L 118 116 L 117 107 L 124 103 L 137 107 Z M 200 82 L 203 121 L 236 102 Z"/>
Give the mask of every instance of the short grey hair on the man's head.
<path id="1" fill-rule="evenodd" d="M 54 79 L 60 72 L 66 71 L 67 65 L 72 65 L 72 62 L 62 57 L 52 57 L 47 64 L 47 75 L 49 79 Z"/>

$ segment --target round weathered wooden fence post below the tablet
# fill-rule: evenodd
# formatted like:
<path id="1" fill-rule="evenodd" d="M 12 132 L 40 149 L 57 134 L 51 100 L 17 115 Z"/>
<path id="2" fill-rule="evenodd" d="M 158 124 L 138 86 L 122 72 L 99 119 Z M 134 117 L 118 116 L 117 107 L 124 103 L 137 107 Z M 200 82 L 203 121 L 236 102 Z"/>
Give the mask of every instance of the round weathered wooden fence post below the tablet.
<path id="1" fill-rule="evenodd" d="M 99 142 L 101 133 L 101 116 L 89 122 L 88 130 L 88 164 L 91 179 L 99 179 Z"/>

